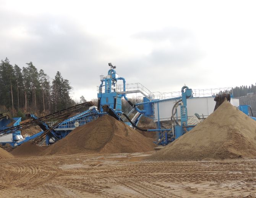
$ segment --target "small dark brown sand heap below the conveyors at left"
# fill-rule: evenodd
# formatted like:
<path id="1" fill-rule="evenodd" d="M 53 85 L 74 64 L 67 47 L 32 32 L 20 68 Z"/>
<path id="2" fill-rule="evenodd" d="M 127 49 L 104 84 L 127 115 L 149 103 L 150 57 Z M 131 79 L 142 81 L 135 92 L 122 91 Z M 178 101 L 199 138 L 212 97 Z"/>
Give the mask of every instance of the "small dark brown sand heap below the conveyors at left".
<path id="1" fill-rule="evenodd" d="M 32 142 L 25 142 L 20 146 L 16 147 L 11 154 L 17 157 L 28 157 L 28 156 L 37 156 L 46 149 L 46 146 L 40 147 Z"/>

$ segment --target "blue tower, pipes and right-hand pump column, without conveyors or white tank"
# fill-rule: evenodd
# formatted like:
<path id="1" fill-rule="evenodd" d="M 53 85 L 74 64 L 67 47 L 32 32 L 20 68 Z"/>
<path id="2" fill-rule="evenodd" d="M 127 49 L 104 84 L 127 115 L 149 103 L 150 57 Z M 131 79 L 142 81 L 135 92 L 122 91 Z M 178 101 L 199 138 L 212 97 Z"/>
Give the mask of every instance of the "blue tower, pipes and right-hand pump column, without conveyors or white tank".
<path id="1" fill-rule="evenodd" d="M 126 81 L 123 77 L 118 77 L 115 66 L 113 66 L 111 63 L 109 63 L 110 70 L 108 71 L 108 75 L 106 77 L 101 76 L 101 84 L 99 86 L 99 93 L 98 93 L 98 109 L 99 112 L 107 112 L 109 115 L 115 117 L 117 120 L 122 120 L 121 115 L 124 115 L 127 120 L 130 122 L 130 124 L 141 131 L 157 131 L 157 139 L 159 139 L 160 144 L 168 144 L 169 142 L 174 141 L 187 131 L 190 131 L 194 126 L 188 126 L 187 125 L 187 104 L 186 99 L 192 96 L 192 89 L 189 89 L 187 86 L 183 86 L 181 89 L 181 96 L 165 99 L 165 100 L 152 100 L 151 98 L 143 97 L 142 103 L 138 104 L 132 104 L 132 102 L 126 97 L 126 93 L 131 93 L 129 91 L 126 91 Z M 119 91 L 117 90 L 117 81 L 122 80 L 123 81 L 123 90 Z M 103 91 L 104 87 L 104 91 Z M 137 116 L 137 119 L 132 121 L 128 115 L 126 115 L 124 112 L 122 112 L 122 97 L 133 107 L 139 114 Z M 174 109 L 172 109 L 172 116 L 173 120 L 175 120 L 176 125 L 170 129 L 162 128 L 160 120 L 157 121 L 157 129 L 141 129 L 138 125 L 138 120 L 141 118 L 141 116 L 146 116 L 149 118 L 154 118 L 154 111 L 153 111 L 153 104 L 159 103 L 162 101 L 169 101 L 169 100 L 178 100 L 175 103 L 175 106 L 180 103 L 180 115 L 181 115 L 181 125 L 179 125 L 178 121 L 175 118 Z M 143 105 L 143 110 L 140 110 L 138 108 L 139 105 Z M 159 112 L 158 112 L 159 116 Z"/>

